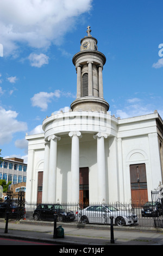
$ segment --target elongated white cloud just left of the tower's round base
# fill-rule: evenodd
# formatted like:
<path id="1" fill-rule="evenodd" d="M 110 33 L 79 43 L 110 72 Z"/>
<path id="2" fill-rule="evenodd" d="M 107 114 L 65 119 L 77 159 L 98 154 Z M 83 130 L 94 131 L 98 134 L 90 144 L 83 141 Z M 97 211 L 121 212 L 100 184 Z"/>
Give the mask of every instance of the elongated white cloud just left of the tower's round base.
<path id="1" fill-rule="evenodd" d="M 36 93 L 30 100 L 32 101 L 33 107 L 40 107 L 41 111 L 46 111 L 48 103 L 50 103 L 54 97 L 57 97 L 59 99 L 61 96 L 74 97 L 74 95 L 70 92 L 62 92 L 61 90 L 55 90 L 55 92 L 53 93 Z"/>

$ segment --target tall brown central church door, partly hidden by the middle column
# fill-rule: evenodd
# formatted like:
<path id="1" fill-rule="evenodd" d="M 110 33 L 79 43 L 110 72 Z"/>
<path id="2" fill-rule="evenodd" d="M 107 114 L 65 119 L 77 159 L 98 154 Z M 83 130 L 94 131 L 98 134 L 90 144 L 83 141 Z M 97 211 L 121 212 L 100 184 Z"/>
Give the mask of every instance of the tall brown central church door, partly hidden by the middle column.
<path id="1" fill-rule="evenodd" d="M 79 202 L 89 204 L 89 168 L 79 168 Z"/>

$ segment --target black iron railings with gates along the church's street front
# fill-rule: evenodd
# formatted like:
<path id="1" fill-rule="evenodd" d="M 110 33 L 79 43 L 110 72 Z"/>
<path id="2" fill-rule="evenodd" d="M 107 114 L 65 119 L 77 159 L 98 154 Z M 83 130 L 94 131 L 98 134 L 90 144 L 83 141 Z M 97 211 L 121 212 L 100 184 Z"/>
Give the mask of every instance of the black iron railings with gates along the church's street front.
<path id="1" fill-rule="evenodd" d="M 58 215 L 57 221 L 75 221 L 78 223 L 110 224 L 113 217 L 115 225 L 139 225 L 140 227 L 163 228 L 163 197 L 160 191 L 152 191 L 152 202 L 147 204 L 116 203 L 46 203 L 40 206 L 37 203 L 25 201 L 24 192 L 7 193 L 6 205 L 0 205 L 0 217 L 5 217 L 10 212 L 10 218 L 24 218 L 26 220 L 54 221 L 54 214 Z M 3 215 L 3 210 L 5 214 Z"/>

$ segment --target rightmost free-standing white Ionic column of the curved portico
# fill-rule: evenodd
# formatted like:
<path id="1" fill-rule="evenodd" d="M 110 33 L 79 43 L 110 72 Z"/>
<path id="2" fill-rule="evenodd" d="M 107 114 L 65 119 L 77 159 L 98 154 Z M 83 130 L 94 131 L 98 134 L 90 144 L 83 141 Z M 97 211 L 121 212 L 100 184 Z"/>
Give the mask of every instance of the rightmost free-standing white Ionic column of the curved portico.
<path id="1" fill-rule="evenodd" d="M 98 166 L 98 202 L 106 200 L 105 185 L 105 145 L 104 138 L 108 136 L 105 133 L 98 132 L 93 138 L 97 139 L 97 166 Z"/>

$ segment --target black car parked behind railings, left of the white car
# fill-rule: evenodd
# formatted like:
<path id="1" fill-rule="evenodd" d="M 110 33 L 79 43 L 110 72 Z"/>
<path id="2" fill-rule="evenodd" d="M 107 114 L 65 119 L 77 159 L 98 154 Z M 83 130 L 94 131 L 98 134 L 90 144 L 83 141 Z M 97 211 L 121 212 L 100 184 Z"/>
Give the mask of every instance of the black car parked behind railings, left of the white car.
<path id="1" fill-rule="evenodd" d="M 74 221 L 73 211 L 66 211 L 60 204 L 39 204 L 33 213 L 34 220 L 54 221 L 54 214 L 57 214 L 57 221 Z"/>

